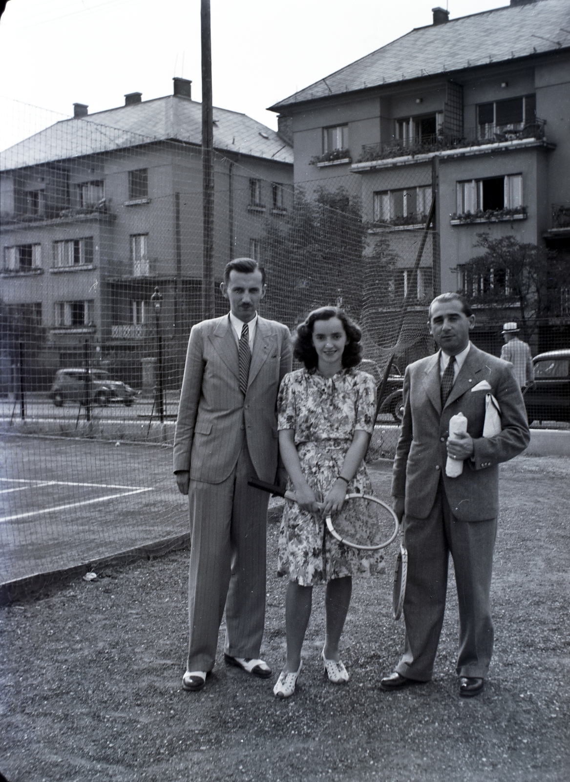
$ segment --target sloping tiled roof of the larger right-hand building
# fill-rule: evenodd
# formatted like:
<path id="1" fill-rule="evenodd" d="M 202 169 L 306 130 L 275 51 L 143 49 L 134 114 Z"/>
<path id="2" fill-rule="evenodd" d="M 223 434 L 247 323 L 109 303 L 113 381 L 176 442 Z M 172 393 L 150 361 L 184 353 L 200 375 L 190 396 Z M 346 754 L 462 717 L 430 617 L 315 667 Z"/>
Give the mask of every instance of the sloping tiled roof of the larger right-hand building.
<path id="1" fill-rule="evenodd" d="M 556 51 L 570 46 L 568 30 L 568 0 L 507 5 L 444 24 L 417 27 L 271 109 L 281 111 L 285 106 L 329 95 Z"/>

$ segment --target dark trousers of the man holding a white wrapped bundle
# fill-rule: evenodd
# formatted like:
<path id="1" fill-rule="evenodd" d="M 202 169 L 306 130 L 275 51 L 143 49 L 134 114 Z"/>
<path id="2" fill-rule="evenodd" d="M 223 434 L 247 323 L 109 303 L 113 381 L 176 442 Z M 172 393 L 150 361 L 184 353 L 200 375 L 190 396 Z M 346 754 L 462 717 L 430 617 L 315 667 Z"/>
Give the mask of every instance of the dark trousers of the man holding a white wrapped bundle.
<path id="1" fill-rule="evenodd" d="M 497 518 L 461 522 L 450 510 L 443 482 L 428 518 L 404 518 L 408 551 L 404 651 L 396 671 L 418 681 L 432 678 L 443 625 L 449 554 L 459 603 L 458 676 L 489 671 L 493 654 L 490 589 Z"/>

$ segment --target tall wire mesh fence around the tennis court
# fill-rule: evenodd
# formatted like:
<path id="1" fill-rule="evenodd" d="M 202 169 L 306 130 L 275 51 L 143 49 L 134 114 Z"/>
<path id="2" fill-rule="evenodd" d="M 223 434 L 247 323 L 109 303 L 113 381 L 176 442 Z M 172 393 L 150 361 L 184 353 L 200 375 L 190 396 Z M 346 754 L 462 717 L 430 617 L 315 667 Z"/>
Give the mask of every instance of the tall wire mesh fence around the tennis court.
<path id="1" fill-rule="evenodd" d="M 0 418 L 5 432 L 48 436 L 5 439 L 2 582 L 187 532 L 170 450 L 141 447 L 173 439 L 188 334 L 212 295 L 201 106 L 178 81 L 156 101 L 134 94 L 95 115 L 76 105 L 2 152 Z M 431 165 L 386 167 L 364 186 L 336 173 L 339 160 L 315 161 L 314 179 L 294 187 L 285 139 L 222 109 L 214 145 L 215 314 L 228 311 L 224 266 L 241 256 L 267 271 L 263 317 L 293 329 L 314 307 L 344 307 L 381 393 L 373 451 L 388 454 L 403 370 L 434 349 Z M 498 354 L 500 331 L 475 332 L 475 343 Z M 531 420 L 568 420 L 567 353 L 537 364 L 535 388 L 556 375 L 562 401 Z"/>

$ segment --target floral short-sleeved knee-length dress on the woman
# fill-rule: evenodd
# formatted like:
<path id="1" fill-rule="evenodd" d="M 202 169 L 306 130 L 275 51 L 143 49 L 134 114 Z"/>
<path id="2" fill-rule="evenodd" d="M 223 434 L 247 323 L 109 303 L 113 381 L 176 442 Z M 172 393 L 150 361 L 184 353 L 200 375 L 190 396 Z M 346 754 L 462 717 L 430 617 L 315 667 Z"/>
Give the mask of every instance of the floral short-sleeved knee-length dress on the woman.
<path id="1" fill-rule="evenodd" d="M 292 429 L 299 461 L 317 502 L 322 502 L 338 478 L 354 432 L 372 433 L 375 418 L 375 380 L 355 368 L 342 369 L 332 378 L 317 370 L 299 369 L 285 375 L 279 389 L 278 429 Z M 293 489 L 289 479 L 289 489 Z M 372 486 L 364 461 L 347 493 L 371 494 Z M 349 504 L 343 513 L 350 514 Z M 350 519 L 355 526 L 366 519 Z M 279 530 L 278 575 L 289 575 L 302 587 L 358 572 L 384 572 L 380 551 L 357 551 L 325 533 L 321 515 L 301 510 L 285 500 Z"/>

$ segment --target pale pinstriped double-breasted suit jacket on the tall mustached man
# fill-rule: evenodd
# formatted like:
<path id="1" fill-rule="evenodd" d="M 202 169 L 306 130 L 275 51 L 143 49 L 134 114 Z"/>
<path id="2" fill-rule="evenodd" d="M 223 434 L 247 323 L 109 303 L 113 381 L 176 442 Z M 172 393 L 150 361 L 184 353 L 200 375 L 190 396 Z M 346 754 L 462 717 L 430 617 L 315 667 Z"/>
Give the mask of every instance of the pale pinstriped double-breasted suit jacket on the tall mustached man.
<path id="1" fill-rule="evenodd" d="M 235 467 L 245 438 L 257 477 L 273 482 L 278 463 L 275 404 L 291 362 L 289 328 L 258 317 L 244 399 L 228 315 L 193 326 L 174 435 L 174 471 L 189 470 L 193 480 L 220 483 Z"/>

